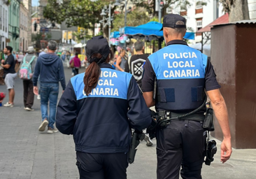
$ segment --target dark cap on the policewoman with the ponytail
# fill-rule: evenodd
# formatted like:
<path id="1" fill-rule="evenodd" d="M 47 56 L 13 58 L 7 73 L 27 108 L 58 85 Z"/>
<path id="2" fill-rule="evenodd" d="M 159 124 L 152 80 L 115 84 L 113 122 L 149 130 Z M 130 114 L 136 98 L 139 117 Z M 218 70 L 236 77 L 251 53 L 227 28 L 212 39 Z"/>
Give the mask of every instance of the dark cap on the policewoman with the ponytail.
<path id="1" fill-rule="evenodd" d="M 92 55 L 94 53 L 99 53 L 102 58 L 99 61 L 105 61 L 110 53 L 110 48 L 108 46 L 108 41 L 103 36 L 94 36 L 91 40 L 87 41 L 85 46 L 86 57 L 88 62 L 92 63 Z"/>

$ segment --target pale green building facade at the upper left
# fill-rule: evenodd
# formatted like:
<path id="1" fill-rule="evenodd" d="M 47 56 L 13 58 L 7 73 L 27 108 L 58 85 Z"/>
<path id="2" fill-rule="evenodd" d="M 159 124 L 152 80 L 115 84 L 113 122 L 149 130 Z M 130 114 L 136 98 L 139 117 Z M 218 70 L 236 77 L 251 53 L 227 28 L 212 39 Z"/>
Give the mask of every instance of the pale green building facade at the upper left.
<path id="1" fill-rule="evenodd" d="M 7 43 L 16 52 L 20 50 L 20 1 L 12 0 L 9 6 L 9 32 Z"/>

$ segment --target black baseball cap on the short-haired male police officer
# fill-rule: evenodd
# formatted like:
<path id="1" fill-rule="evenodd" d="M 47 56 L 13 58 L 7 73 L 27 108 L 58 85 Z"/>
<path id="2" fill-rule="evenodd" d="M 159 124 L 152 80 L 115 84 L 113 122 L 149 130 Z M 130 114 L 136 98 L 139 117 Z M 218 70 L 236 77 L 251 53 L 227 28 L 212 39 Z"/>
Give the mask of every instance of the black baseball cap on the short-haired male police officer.
<path id="1" fill-rule="evenodd" d="M 184 24 L 176 24 L 178 21 L 182 21 Z M 178 14 L 166 14 L 164 15 L 163 27 L 160 31 L 162 31 L 164 27 L 186 28 L 186 19 Z"/>

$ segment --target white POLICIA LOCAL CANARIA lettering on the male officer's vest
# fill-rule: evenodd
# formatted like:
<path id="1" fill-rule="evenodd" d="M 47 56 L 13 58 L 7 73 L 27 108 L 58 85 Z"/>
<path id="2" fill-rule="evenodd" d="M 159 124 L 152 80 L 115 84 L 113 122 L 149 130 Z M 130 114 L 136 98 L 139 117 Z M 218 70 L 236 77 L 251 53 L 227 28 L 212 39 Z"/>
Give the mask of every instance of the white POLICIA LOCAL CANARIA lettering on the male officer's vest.
<path id="1" fill-rule="evenodd" d="M 193 59 L 197 58 L 195 52 L 183 52 L 183 53 L 164 53 L 164 59 Z M 198 69 L 187 69 L 195 68 L 196 66 L 192 61 L 180 61 L 180 62 L 168 62 L 168 68 L 170 71 L 164 71 L 164 78 L 178 78 L 178 77 L 200 77 Z M 185 68 L 184 70 L 178 70 L 178 68 Z"/>

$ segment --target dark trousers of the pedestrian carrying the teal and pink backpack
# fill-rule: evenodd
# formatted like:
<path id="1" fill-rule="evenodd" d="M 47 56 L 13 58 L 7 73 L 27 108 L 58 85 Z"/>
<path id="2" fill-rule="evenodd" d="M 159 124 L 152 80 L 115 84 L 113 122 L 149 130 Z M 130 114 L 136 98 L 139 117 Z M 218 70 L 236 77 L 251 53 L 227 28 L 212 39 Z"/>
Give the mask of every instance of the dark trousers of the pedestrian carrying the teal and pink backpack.
<path id="1" fill-rule="evenodd" d="M 34 104 L 34 91 L 32 80 L 23 80 L 23 102 L 25 108 L 31 108 Z"/>

